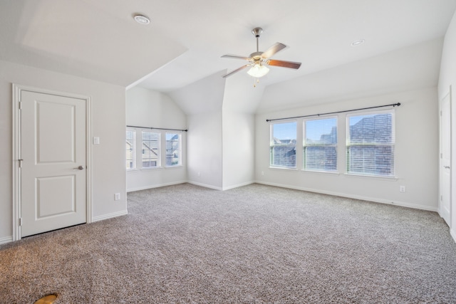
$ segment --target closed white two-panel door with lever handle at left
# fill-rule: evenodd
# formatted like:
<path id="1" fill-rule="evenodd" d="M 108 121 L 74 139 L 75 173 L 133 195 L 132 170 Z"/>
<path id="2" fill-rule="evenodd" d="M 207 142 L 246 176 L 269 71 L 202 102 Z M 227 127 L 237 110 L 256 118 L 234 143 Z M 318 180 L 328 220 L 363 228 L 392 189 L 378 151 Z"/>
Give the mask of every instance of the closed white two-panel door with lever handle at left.
<path id="1" fill-rule="evenodd" d="M 86 223 L 86 100 L 21 91 L 21 236 Z"/>

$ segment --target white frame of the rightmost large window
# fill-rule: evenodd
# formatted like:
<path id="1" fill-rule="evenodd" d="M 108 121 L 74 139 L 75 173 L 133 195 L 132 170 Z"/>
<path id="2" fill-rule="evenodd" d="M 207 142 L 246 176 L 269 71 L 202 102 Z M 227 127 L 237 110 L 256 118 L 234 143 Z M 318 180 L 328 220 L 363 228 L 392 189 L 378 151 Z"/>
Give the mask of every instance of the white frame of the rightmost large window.
<path id="1" fill-rule="evenodd" d="M 350 118 L 356 116 L 366 116 L 366 115 L 382 115 L 382 114 L 389 114 L 391 115 L 391 141 L 388 143 L 384 142 L 351 142 L 350 136 Z M 361 120 L 360 120 L 361 121 Z M 351 147 L 390 147 L 391 149 L 391 157 L 390 162 L 391 165 L 388 168 L 390 173 L 389 174 L 375 174 L 369 172 L 353 172 L 349 170 L 350 168 L 350 149 Z M 376 160 L 376 159 L 375 159 Z M 346 174 L 348 175 L 356 175 L 362 177 L 380 177 L 380 178 L 396 178 L 395 177 L 395 110 L 388 109 L 388 110 L 376 110 L 376 111 L 369 111 L 369 112 L 356 112 L 346 115 Z"/>

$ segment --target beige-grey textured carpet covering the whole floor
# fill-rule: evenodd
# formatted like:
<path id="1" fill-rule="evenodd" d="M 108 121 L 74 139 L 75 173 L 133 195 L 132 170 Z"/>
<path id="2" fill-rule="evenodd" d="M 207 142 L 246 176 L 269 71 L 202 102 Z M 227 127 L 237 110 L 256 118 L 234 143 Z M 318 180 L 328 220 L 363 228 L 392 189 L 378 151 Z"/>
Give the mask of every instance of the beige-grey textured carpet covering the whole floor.
<path id="1" fill-rule="evenodd" d="M 435 212 L 260 184 L 132 192 L 128 211 L 0 246 L 0 303 L 456 303 Z"/>

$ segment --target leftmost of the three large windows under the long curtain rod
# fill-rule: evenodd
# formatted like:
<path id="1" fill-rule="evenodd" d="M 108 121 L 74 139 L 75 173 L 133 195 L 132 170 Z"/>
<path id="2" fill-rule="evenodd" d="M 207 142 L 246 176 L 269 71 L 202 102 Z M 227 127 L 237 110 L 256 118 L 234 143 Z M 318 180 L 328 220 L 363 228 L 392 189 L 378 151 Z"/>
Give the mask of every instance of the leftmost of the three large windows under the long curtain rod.
<path id="1" fill-rule="evenodd" d="M 271 124 L 271 167 L 296 168 L 296 122 Z"/>

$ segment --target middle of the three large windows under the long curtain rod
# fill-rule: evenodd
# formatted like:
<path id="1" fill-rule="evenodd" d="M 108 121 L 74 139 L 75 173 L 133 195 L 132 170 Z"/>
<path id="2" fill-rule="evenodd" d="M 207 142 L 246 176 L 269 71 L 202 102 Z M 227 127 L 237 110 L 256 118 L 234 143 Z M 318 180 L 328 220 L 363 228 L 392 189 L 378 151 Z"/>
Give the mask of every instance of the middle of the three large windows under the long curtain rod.
<path id="1" fill-rule="evenodd" d="M 337 118 L 304 121 L 304 170 L 337 171 Z"/>

